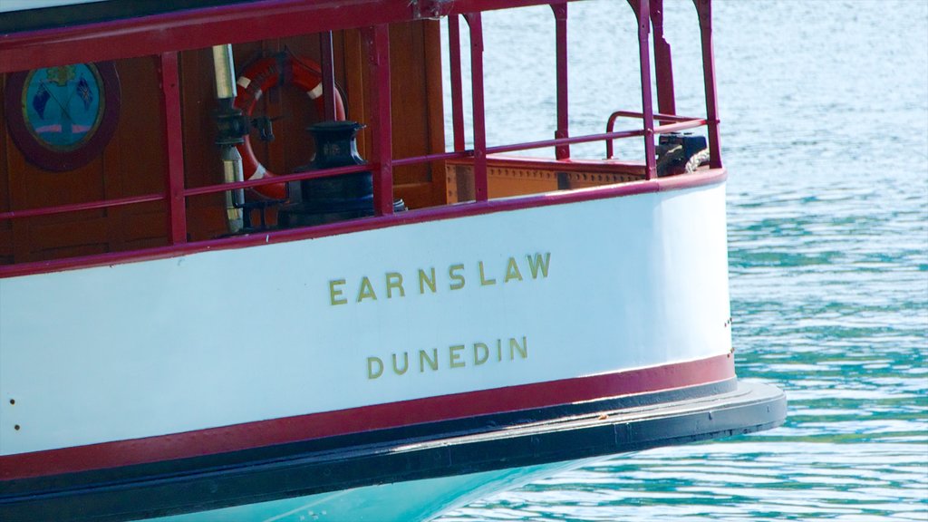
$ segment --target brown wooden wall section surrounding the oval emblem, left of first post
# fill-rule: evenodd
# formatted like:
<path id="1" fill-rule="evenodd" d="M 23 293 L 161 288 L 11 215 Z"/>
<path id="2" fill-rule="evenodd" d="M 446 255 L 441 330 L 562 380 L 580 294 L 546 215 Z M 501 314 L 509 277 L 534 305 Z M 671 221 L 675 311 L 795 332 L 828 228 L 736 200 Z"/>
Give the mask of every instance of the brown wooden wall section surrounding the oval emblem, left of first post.
<path id="1" fill-rule="evenodd" d="M 90 163 L 49 172 L 29 163 L 6 127 L 0 128 L 0 211 L 160 193 L 163 137 L 154 59 L 116 62 L 122 111 L 116 132 Z M 6 96 L 6 75 L 3 76 Z M 0 107 L 0 111 L 3 108 Z M 161 203 L 0 221 L 0 262 L 21 263 L 103 254 L 164 244 Z"/>

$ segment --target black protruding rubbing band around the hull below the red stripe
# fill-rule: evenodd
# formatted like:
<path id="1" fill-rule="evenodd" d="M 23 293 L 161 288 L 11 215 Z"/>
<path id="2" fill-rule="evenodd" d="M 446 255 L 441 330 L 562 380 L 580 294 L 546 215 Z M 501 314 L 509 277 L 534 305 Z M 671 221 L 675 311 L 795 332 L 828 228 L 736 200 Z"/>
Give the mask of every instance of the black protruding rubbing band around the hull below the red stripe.
<path id="1" fill-rule="evenodd" d="M 0 490 L 0 519 L 115 521 L 177 515 L 374 484 L 571 461 L 769 429 L 786 399 L 769 385 L 686 389 L 407 426 L 299 445 L 38 479 Z M 717 387 L 715 389 L 717 392 Z M 687 397 L 689 396 L 689 397 Z M 653 397 L 652 397 L 653 398 Z M 629 405 L 626 401 L 639 403 Z M 621 402 L 625 401 L 625 405 Z M 467 423 L 479 422 L 480 427 Z M 458 429 L 455 429 L 458 428 Z M 170 470 L 170 471 L 169 471 Z M 143 474 L 144 473 L 144 474 Z"/>

